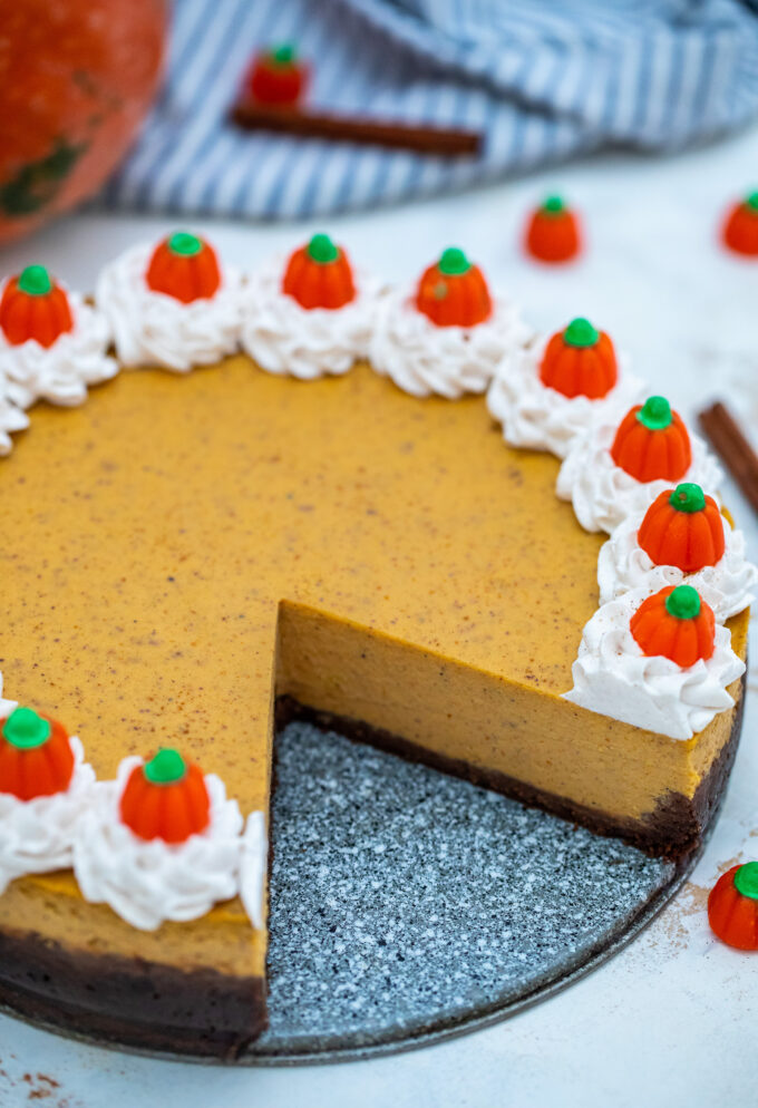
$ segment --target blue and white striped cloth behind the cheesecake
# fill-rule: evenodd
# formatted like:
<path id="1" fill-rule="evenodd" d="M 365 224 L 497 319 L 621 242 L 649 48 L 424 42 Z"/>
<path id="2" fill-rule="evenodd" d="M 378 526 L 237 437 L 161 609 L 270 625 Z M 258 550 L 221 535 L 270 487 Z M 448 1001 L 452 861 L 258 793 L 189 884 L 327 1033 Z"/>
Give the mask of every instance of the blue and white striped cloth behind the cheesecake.
<path id="1" fill-rule="evenodd" d="M 226 122 L 252 54 L 293 41 L 313 106 L 482 130 L 476 159 Z M 261 218 L 428 195 L 608 146 L 676 149 L 758 113 L 739 0 L 177 0 L 168 79 L 107 206 Z"/>

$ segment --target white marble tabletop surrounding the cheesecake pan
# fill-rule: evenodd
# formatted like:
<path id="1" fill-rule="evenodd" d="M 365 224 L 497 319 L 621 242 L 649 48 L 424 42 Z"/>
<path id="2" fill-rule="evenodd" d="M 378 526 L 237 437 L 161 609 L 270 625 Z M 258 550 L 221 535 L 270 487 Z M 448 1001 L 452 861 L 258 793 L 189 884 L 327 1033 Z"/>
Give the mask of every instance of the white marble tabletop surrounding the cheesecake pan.
<path id="1" fill-rule="evenodd" d="M 590 315 L 636 370 L 692 414 L 728 397 L 758 435 L 758 262 L 719 249 L 725 204 L 758 184 L 758 130 L 676 159 L 605 158 L 486 191 L 329 227 L 387 278 L 420 271 L 457 243 L 511 291 L 528 319 L 557 328 Z M 526 208 L 563 191 L 586 213 L 585 259 L 566 270 L 525 262 Z M 91 289 L 98 265 L 171 220 L 79 216 L 0 252 L 0 272 L 43 262 Z M 198 221 L 225 255 L 252 263 L 315 227 Z M 321 227 L 319 227 L 321 230 Z M 33 417 L 32 417 L 33 419 Z M 758 556 L 758 523 L 729 504 Z M 758 955 L 716 942 L 707 891 L 758 857 L 758 664 L 732 784 L 708 849 L 677 901 L 626 951 L 566 992 L 487 1031 L 385 1058 L 293 1070 L 220 1069 L 74 1044 L 0 1017 L 0 1105 L 50 1108 L 658 1108 L 756 1101 Z M 51 1085 L 52 1079 L 57 1085 Z"/>

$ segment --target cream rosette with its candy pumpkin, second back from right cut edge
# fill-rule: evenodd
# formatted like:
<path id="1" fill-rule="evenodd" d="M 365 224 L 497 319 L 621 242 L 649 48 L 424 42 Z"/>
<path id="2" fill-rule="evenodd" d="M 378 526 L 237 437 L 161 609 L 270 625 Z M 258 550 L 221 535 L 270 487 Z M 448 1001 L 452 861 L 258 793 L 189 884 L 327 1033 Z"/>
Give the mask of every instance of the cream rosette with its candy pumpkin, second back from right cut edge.
<path id="1" fill-rule="evenodd" d="M 619 524 L 601 547 L 597 583 L 601 604 L 630 590 L 692 585 L 723 623 L 755 599 L 758 568 L 713 497 L 683 483 Z"/>

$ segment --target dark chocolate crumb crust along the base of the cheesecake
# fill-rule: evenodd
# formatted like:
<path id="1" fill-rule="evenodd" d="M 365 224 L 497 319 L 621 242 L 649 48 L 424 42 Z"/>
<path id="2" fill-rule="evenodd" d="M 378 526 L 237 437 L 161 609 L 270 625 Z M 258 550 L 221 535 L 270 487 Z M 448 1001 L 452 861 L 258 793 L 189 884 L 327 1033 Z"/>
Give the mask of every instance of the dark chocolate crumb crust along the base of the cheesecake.
<path id="1" fill-rule="evenodd" d="M 671 793 L 640 820 L 584 808 L 505 774 L 440 757 L 389 731 L 317 711 L 289 697 L 276 701 L 276 728 L 308 721 L 681 863 L 698 849 L 718 809 L 737 752 L 744 704 L 745 688 L 729 741 L 694 796 Z M 234 1061 L 266 1027 L 265 993 L 262 978 L 212 969 L 183 971 L 138 958 L 69 950 L 35 932 L 0 932 L 0 1005 L 36 1023 L 137 1050 Z"/>

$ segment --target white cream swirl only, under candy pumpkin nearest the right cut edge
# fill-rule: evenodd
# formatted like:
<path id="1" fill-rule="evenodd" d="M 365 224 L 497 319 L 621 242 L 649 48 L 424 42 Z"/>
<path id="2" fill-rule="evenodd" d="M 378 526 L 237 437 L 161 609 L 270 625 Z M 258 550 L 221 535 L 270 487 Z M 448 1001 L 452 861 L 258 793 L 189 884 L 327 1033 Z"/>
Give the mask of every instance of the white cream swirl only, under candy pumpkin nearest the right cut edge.
<path id="1" fill-rule="evenodd" d="M 727 689 L 742 676 L 745 662 L 720 624 L 712 657 L 694 665 L 643 654 L 629 622 L 649 595 L 636 589 L 597 609 L 582 632 L 572 667 L 574 687 L 563 699 L 643 730 L 691 739 L 718 712 L 733 707 Z"/>

